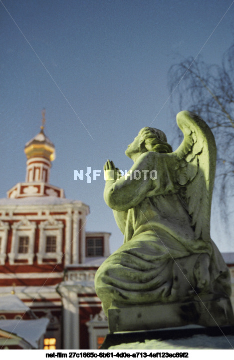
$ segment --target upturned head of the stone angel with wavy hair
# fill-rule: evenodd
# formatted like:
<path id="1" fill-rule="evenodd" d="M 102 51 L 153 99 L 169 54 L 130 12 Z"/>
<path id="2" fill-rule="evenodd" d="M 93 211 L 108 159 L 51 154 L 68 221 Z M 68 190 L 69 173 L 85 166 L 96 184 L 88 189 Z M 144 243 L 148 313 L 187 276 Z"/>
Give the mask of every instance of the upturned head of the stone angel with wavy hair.
<path id="1" fill-rule="evenodd" d="M 136 158 L 147 151 L 156 151 L 163 154 L 172 152 L 172 147 L 168 144 L 163 131 L 154 127 L 143 127 L 134 141 L 128 145 L 125 154 L 134 160 L 134 157 Z"/>

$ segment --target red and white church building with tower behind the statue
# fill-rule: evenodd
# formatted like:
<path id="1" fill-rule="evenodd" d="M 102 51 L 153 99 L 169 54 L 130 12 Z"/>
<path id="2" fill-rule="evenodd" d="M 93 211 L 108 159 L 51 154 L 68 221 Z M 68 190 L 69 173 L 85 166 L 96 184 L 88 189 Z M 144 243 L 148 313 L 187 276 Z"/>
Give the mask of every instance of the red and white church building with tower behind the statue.
<path id="1" fill-rule="evenodd" d="M 49 319 L 47 349 L 97 348 L 108 330 L 103 318 L 90 335 L 89 321 L 101 312 L 94 275 L 109 256 L 110 233 L 86 233 L 89 207 L 49 184 L 55 149 L 43 127 L 24 151 L 25 182 L 0 199 L 0 297 L 13 293 Z"/>

